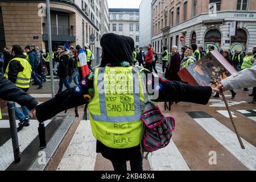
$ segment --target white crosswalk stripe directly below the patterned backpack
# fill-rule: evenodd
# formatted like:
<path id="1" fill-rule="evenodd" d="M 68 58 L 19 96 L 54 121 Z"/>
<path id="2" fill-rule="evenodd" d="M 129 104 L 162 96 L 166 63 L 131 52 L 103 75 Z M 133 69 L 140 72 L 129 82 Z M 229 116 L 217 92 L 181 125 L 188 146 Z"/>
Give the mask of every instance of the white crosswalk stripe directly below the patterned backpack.
<path id="1" fill-rule="evenodd" d="M 183 156 L 172 140 L 168 146 L 151 154 L 148 154 L 148 161 L 152 171 L 190 171 Z"/>

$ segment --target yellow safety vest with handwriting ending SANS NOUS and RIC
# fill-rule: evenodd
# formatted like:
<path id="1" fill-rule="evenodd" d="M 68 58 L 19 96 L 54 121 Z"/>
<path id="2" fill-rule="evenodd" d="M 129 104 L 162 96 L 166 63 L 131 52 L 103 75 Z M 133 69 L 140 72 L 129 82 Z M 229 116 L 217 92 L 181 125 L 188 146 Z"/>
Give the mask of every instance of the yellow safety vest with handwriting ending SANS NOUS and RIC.
<path id="1" fill-rule="evenodd" d="M 145 98 L 142 81 L 134 67 L 95 69 L 94 97 L 88 104 L 89 118 L 93 136 L 105 146 L 131 148 L 141 142 L 140 104 Z"/>

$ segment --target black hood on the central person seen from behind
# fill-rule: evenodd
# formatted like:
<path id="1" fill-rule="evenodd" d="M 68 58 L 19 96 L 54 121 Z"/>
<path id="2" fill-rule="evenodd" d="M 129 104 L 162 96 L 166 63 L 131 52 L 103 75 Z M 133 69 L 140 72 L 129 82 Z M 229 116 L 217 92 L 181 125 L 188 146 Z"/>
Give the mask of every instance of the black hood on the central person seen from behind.
<path id="1" fill-rule="evenodd" d="M 108 63 L 133 63 L 134 40 L 129 36 L 104 34 L 101 38 L 102 60 L 101 67 Z"/>

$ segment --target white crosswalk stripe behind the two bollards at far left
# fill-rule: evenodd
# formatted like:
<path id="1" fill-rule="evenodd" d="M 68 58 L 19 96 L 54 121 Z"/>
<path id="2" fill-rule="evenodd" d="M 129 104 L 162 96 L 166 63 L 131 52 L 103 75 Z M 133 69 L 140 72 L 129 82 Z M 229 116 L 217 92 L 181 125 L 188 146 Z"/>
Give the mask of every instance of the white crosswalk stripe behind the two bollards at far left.
<path id="1" fill-rule="evenodd" d="M 45 126 L 47 126 L 49 122 L 51 122 L 51 120 L 45 121 L 44 122 Z M 18 132 L 20 153 L 23 150 L 25 150 L 25 148 L 27 148 L 27 146 L 37 136 L 38 136 L 38 122 L 30 122 L 30 126 L 23 127 L 23 129 Z M 10 138 L 5 144 L 0 146 L 0 171 L 4 171 L 13 162 L 14 162 L 13 144 Z"/>

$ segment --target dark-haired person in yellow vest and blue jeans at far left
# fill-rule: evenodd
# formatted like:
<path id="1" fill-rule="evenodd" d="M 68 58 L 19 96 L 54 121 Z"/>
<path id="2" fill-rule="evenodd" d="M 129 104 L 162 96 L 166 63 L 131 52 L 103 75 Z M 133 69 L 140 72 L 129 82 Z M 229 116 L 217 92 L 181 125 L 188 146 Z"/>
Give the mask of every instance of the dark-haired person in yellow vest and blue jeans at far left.
<path id="1" fill-rule="evenodd" d="M 23 54 L 23 50 L 20 46 L 14 45 L 11 49 L 11 54 L 14 58 L 9 62 L 6 68 L 5 77 L 13 82 L 18 88 L 27 92 L 30 88 L 30 78 L 32 68 L 30 63 L 26 60 L 26 56 Z M 18 130 L 21 130 L 23 126 L 30 125 L 29 110 L 26 106 L 21 106 L 23 113 L 15 105 L 15 115 L 19 119 Z"/>

